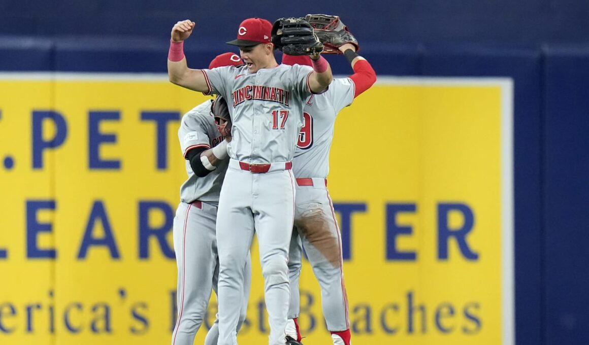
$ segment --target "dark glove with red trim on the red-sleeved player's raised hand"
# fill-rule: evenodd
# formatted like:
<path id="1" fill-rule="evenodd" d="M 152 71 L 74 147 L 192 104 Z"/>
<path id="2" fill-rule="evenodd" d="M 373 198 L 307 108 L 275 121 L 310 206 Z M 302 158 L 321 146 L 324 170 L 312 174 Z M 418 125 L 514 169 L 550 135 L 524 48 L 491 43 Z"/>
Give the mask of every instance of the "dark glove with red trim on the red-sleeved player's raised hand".
<path id="1" fill-rule="evenodd" d="M 343 24 L 339 16 L 325 15 L 325 14 L 307 14 L 305 20 L 309 22 L 325 48 L 324 54 L 343 54 L 339 51 L 339 47 L 346 43 L 351 43 L 356 46 L 356 51 L 360 50 L 358 41 L 348 31 L 348 26 Z"/>

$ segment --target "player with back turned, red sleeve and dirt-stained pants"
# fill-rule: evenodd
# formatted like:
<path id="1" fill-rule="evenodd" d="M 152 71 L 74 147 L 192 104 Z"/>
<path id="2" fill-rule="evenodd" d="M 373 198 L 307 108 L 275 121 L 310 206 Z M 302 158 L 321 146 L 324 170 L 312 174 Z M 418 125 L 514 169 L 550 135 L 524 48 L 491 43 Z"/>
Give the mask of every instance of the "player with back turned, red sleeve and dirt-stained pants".
<path id="1" fill-rule="evenodd" d="M 356 47 L 339 47 L 354 70 L 348 78 L 336 78 L 321 95 L 309 97 L 303 108 L 305 124 L 293 159 L 296 177 L 294 229 L 289 254 L 290 307 L 286 333 L 301 340 L 299 316 L 299 276 L 302 245 L 321 287 L 323 315 L 334 345 L 350 345 L 348 297 L 343 280 L 342 241 L 327 191 L 329 150 L 337 113 L 350 105 L 376 81 L 375 71 Z M 283 64 L 310 65 L 307 57 L 283 55 Z"/>

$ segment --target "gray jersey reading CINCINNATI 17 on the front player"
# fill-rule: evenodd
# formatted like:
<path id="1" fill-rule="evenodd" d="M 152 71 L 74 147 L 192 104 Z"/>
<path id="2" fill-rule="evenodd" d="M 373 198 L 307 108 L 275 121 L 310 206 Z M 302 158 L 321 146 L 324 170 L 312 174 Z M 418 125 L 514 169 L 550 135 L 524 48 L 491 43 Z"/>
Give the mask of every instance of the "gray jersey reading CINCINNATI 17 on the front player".
<path id="1" fill-rule="evenodd" d="M 280 65 L 203 69 L 209 92 L 227 99 L 233 121 L 229 157 L 250 164 L 292 161 L 312 69 Z M 297 101 L 298 99 L 298 101 Z"/>

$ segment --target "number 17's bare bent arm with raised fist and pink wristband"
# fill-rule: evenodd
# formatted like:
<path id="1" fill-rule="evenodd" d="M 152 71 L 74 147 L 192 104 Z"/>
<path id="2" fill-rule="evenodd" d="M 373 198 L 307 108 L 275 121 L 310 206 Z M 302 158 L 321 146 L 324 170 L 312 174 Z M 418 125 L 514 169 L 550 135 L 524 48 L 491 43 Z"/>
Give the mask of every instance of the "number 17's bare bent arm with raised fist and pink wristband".
<path id="1" fill-rule="evenodd" d="M 207 92 L 204 73 L 200 69 L 188 68 L 184 57 L 184 40 L 190 37 L 194 29 L 193 21 L 177 22 L 172 28 L 170 51 L 168 52 L 168 78 L 170 82 L 194 91 Z"/>

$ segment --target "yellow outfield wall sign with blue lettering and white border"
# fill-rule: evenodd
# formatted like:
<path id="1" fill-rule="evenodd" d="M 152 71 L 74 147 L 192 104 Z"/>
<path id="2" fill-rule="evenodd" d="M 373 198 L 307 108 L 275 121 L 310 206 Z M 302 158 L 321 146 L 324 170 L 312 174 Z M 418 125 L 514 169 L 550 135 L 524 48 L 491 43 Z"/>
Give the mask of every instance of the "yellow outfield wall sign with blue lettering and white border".
<path id="1" fill-rule="evenodd" d="M 205 99 L 158 75 L 0 75 L 0 344 L 170 343 L 176 132 Z M 509 79 L 382 78 L 340 113 L 353 344 L 514 344 L 512 108 Z M 330 343 L 308 263 L 300 282 L 303 342 Z M 254 259 L 238 339 L 268 331 Z"/>

